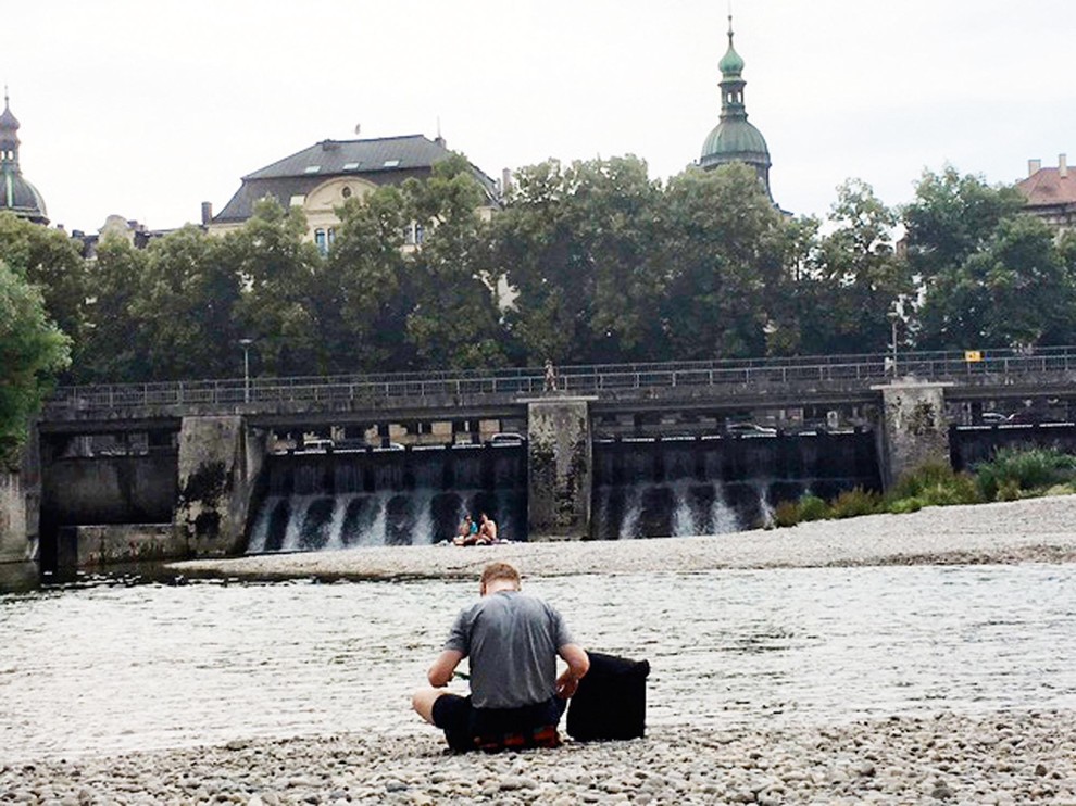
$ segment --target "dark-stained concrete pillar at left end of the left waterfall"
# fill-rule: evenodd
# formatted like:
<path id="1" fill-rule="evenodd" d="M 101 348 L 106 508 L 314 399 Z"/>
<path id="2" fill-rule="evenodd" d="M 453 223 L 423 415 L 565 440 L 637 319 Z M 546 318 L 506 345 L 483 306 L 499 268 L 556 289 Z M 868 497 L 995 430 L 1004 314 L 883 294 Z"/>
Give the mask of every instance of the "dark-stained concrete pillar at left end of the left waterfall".
<path id="1" fill-rule="evenodd" d="M 179 430 L 179 498 L 174 522 L 196 556 L 240 553 L 254 482 L 265 463 L 268 433 L 240 416 L 184 417 Z"/>

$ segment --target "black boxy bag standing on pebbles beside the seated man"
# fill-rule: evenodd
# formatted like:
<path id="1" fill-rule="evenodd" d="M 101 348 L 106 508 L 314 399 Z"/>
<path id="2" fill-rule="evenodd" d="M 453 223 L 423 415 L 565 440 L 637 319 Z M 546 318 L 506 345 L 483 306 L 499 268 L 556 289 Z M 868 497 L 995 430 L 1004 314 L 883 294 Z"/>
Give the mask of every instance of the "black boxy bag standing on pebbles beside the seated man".
<path id="1" fill-rule="evenodd" d="M 647 727 L 648 660 L 588 652 L 590 670 L 568 704 L 573 739 L 639 739 Z"/>

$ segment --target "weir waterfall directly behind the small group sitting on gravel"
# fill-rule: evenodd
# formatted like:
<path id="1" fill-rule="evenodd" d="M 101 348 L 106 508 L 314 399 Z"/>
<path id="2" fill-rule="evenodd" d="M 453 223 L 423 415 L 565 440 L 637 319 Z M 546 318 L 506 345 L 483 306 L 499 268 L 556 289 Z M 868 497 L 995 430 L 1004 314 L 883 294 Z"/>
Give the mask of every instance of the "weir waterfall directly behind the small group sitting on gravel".
<path id="1" fill-rule="evenodd" d="M 247 552 L 437 543 L 480 512 L 524 540 L 526 482 L 522 445 L 274 455 Z"/>

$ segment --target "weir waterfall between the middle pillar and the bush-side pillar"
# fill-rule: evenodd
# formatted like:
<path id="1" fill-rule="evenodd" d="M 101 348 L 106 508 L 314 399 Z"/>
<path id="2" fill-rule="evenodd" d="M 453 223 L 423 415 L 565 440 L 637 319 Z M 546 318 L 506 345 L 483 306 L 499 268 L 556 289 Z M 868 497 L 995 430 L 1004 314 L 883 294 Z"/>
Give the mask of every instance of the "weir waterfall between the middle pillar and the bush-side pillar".
<path id="1" fill-rule="evenodd" d="M 723 534 L 806 493 L 880 488 L 871 433 L 624 440 L 595 445 L 593 537 Z"/>

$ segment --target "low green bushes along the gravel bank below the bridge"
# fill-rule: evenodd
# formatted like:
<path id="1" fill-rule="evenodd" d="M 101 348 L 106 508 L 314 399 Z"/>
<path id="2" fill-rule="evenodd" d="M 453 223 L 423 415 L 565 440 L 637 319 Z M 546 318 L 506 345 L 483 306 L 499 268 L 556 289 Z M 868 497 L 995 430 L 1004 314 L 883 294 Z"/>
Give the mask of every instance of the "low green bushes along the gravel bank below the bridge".
<path id="1" fill-rule="evenodd" d="M 902 477 L 886 494 L 856 488 L 831 501 L 804 495 L 774 509 L 775 526 L 831 520 L 860 515 L 917 512 L 925 506 L 1016 501 L 1076 493 L 1076 456 L 1052 448 L 999 450 L 971 473 L 947 464 L 929 464 Z"/>

